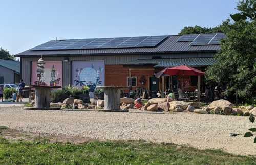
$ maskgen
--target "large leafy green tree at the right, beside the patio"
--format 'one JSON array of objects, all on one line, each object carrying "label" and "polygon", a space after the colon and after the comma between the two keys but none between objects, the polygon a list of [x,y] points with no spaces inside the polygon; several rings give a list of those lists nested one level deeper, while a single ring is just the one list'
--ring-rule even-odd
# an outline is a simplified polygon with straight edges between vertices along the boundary
[{"label": "large leafy green tree at the right, beside the patio", "polygon": [[237,95],[240,101],[256,100],[256,14],[255,10],[252,12],[255,3],[239,1],[240,13],[230,15],[234,23],[226,23],[223,27],[226,38],[214,57],[216,63],[206,71],[208,81],[227,85],[229,98]]}]

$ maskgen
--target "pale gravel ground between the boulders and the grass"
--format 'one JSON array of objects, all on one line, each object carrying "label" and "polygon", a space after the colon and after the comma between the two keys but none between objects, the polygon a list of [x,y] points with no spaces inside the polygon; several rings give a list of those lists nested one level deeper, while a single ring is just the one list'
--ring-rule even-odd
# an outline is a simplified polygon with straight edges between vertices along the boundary
[{"label": "pale gravel ground between the boulders and the grass", "polygon": [[80,136],[99,140],[147,140],[189,144],[199,149],[224,149],[240,155],[256,155],[253,138],[243,135],[255,127],[248,117],[193,113],[98,111],[40,111],[0,107],[0,126],[15,130]]}]

